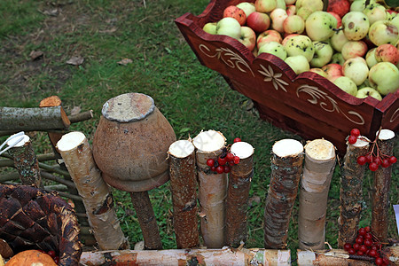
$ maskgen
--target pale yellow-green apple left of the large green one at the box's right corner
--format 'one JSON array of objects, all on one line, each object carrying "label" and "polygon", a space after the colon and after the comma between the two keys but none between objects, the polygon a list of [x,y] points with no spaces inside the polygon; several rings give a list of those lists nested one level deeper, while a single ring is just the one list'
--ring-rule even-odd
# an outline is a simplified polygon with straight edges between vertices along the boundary
[{"label": "pale yellow-green apple left of the large green one at the box's right corner", "polygon": [[359,86],[367,79],[369,67],[364,58],[356,57],[345,61],[342,73],[355,82],[356,86]]}]

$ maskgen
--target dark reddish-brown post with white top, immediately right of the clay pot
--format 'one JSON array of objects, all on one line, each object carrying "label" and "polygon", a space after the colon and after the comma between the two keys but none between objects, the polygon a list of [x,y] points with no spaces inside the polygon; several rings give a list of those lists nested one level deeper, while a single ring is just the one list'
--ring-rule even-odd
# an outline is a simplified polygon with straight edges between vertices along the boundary
[{"label": "dark reddish-brown post with white top, immediately right of the clay pot", "polygon": [[194,150],[190,140],[178,140],[169,146],[168,151],[177,248],[200,246]]}]

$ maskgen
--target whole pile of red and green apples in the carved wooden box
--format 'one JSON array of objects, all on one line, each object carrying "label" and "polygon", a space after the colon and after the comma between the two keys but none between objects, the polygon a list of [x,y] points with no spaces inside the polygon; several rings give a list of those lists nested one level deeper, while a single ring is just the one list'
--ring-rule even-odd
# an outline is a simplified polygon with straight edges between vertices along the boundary
[{"label": "whole pile of red and green apples in the carved wooden box", "polygon": [[[399,14],[381,0],[256,0],[228,6],[203,30],[239,40],[258,56],[312,71],[357,97],[399,88]],[[382,0],[383,1],[383,0]]]}]

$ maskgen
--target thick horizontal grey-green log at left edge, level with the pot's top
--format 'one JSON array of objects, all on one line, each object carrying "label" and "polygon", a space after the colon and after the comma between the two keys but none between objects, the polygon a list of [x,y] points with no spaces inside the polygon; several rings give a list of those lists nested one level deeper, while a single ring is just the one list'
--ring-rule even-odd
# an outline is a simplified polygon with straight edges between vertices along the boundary
[{"label": "thick horizontal grey-green log at left edge, level with the pot's top", "polygon": [[61,106],[18,108],[0,107],[0,129],[45,131],[67,129],[71,122]]}]

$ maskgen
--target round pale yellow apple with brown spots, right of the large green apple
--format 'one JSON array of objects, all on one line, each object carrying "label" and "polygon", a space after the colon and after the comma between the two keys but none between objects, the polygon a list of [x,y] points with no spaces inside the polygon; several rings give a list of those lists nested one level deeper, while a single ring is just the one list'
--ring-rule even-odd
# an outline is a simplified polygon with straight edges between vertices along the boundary
[{"label": "round pale yellow apple with brown spots, right of the large green apple", "polygon": [[370,21],[364,12],[348,12],[342,18],[342,27],[350,41],[359,41],[369,32]]}]

